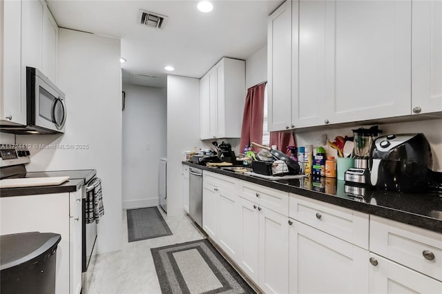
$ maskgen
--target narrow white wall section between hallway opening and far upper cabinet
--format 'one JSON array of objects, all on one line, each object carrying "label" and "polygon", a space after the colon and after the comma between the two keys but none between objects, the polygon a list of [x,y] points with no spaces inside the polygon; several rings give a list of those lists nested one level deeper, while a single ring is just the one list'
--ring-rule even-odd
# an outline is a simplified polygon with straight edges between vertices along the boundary
[{"label": "narrow white wall section between hallway opening and far upper cabinet", "polygon": [[200,79],[167,76],[167,214],[183,215],[182,160],[201,146]]}]

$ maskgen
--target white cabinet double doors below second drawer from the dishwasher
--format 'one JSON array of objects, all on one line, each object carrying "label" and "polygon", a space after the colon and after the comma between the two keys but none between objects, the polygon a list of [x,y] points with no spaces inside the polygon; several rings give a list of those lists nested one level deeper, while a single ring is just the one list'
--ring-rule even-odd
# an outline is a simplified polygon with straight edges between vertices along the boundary
[{"label": "white cabinet double doors below second drawer from the dishwasher", "polygon": [[265,293],[289,291],[288,217],[241,199],[240,267]]}]

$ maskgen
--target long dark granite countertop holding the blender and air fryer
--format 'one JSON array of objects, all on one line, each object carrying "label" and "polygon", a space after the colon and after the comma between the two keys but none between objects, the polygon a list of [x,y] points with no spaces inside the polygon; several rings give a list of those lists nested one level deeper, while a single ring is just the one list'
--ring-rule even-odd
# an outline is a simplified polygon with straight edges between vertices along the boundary
[{"label": "long dark granite countertop holding the blender and air fryer", "polygon": [[355,196],[345,192],[344,181],[333,178],[310,176],[276,182],[187,161],[183,161],[183,164],[442,233],[442,193],[398,193],[367,189],[365,193]]}]

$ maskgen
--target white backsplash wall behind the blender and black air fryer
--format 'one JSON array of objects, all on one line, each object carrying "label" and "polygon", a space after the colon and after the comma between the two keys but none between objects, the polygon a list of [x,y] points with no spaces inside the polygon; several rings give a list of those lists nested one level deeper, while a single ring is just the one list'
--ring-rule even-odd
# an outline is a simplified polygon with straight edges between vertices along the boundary
[{"label": "white backsplash wall behind the blender and black air fryer", "polygon": [[[359,127],[369,127],[372,125],[359,125],[355,124],[352,128],[326,128],[324,130],[318,130],[308,133],[296,133],[296,141],[298,146],[305,146],[305,144],[318,145],[318,139],[321,134],[327,134],[330,141],[334,141],[334,138],[338,135],[352,137],[352,129]],[[423,133],[427,140],[430,142],[433,155],[433,170],[442,172],[442,119],[432,119],[425,121],[409,121],[396,124],[379,124],[378,125],[383,134],[400,134],[400,133]],[[326,151],[329,155],[336,156],[336,152],[333,149]]]}]

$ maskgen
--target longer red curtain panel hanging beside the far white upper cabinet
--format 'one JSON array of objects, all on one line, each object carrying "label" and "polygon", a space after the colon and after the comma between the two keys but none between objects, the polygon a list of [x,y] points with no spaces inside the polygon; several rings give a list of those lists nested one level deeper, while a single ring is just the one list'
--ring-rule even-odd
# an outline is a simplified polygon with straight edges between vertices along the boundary
[{"label": "longer red curtain panel hanging beside the far white upper cabinet", "polygon": [[250,145],[252,141],[262,144],[265,84],[258,84],[247,89],[244,115],[242,116],[240,153],[242,153],[244,146]]}]

